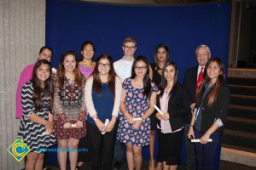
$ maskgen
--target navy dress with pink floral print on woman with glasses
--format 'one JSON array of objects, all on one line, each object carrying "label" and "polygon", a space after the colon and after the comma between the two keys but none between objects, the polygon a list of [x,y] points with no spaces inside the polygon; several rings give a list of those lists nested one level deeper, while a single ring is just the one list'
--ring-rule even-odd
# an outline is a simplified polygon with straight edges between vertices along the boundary
[{"label": "navy dress with pink floral print on woman with glasses", "polygon": [[[143,88],[133,88],[131,78],[125,79],[123,82],[125,89],[125,108],[131,116],[141,117],[148,110],[149,98],[143,96]],[[151,82],[151,92],[156,93],[157,87]],[[139,129],[131,128],[131,124],[127,122],[124,114],[120,115],[117,139],[123,143],[131,143],[136,146],[145,146],[150,143],[150,119],[149,117],[142,123]]]}]

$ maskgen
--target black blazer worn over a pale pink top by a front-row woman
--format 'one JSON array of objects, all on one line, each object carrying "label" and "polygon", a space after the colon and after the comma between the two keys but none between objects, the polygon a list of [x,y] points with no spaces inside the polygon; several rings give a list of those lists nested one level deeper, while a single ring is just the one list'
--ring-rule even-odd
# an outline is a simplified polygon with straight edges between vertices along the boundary
[{"label": "black blazer worn over a pale pink top by a front-row woman", "polygon": [[[160,108],[160,94],[157,94],[156,105]],[[183,116],[186,116],[190,112],[191,102],[189,96],[184,88],[177,84],[176,90],[174,90],[169,98],[168,113],[170,114],[169,122],[172,127],[172,131],[175,131],[184,126]],[[156,114],[157,111],[154,111]],[[160,127],[160,120],[156,119],[158,126]]]}]

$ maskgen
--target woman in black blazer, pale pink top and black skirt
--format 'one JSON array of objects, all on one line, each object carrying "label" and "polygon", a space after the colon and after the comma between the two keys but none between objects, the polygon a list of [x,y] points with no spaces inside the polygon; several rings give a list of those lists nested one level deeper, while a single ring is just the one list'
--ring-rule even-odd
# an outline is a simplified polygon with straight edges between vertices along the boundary
[{"label": "woman in black blazer, pale pink top and black skirt", "polygon": [[156,113],[159,150],[156,169],[176,169],[181,163],[183,116],[190,111],[189,96],[177,83],[177,65],[167,62],[163,68],[157,106],[164,113]]}]

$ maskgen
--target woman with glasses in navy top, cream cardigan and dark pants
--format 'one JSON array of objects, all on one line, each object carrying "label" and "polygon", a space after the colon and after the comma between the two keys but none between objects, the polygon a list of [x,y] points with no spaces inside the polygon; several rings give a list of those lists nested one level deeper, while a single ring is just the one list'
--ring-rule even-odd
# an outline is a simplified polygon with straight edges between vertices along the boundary
[{"label": "woman with glasses in navy top, cream cardigan and dark pants", "polygon": [[92,146],[91,169],[111,170],[121,83],[113,70],[111,56],[101,54],[96,59],[95,70],[87,79],[84,90],[85,104],[90,114],[87,125]]}]

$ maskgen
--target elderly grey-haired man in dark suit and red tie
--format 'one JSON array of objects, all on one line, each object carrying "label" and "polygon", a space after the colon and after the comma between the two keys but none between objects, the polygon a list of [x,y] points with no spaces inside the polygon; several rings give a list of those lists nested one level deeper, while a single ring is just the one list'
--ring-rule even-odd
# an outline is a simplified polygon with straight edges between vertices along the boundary
[{"label": "elderly grey-haired man in dark suit and red tie", "polygon": [[[198,62],[198,65],[191,67],[185,71],[183,87],[189,94],[189,98],[192,102],[190,105],[191,111],[195,107],[195,94],[202,81],[202,72],[204,71],[205,65],[207,64],[208,59],[211,57],[210,48],[207,45],[199,45],[195,49],[195,55]],[[185,134],[189,132],[189,123],[191,122],[192,114],[185,116]],[[186,152],[187,152],[187,169],[195,170],[195,149],[194,144],[191,144],[189,139],[186,137]]]}]

